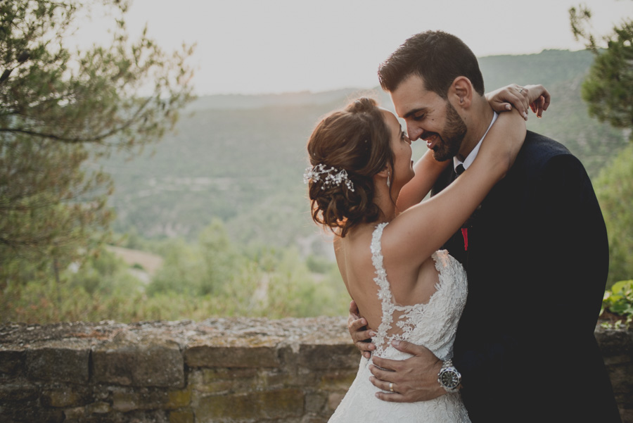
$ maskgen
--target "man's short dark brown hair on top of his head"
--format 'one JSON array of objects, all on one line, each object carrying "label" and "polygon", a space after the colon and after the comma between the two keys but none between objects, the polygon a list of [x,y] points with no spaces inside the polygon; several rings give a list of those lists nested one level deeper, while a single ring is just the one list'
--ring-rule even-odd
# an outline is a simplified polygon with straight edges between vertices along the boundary
[{"label": "man's short dark brown hair on top of his head", "polygon": [[394,91],[409,75],[422,77],[426,89],[442,99],[454,79],[467,77],[478,94],[484,94],[479,63],[471,49],[452,34],[427,31],[415,34],[399,46],[378,68],[385,91]]}]

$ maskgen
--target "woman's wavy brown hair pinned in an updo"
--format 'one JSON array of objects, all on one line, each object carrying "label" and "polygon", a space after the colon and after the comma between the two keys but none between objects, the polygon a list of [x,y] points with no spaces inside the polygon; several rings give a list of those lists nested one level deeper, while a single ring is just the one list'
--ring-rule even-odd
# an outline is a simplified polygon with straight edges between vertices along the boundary
[{"label": "woman's wavy brown hair pinned in an updo", "polygon": [[[376,101],[366,97],[342,111],[327,115],[316,125],[307,143],[310,164],[347,172],[347,181],[310,178],[308,193],[312,220],[345,236],[359,223],[375,222],[381,210],[373,203],[372,177],[390,163],[390,134]],[[391,175],[393,177],[393,175]]]}]

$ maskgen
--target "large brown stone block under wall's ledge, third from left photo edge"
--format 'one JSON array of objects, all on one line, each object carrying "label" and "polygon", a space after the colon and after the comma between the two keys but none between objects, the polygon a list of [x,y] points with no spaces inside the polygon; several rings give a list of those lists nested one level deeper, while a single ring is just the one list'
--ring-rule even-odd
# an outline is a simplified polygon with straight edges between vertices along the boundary
[{"label": "large brown stone block under wall's ledge, third from left photo edge", "polygon": [[92,351],[94,380],[124,386],[184,386],[184,360],[177,343],[112,341]]}]

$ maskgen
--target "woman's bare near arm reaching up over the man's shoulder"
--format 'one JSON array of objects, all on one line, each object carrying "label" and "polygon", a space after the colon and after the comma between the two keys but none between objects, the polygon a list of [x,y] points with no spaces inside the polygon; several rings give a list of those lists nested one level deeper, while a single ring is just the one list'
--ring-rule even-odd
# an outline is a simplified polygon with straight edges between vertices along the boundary
[{"label": "woman's bare near arm reaching up over the man's shoulder", "polygon": [[499,115],[463,175],[385,228],[383,251],[390,251],[391,265],[415,268],[437,251],[506,175],[524,139],[525,122],[518,111]]}]

